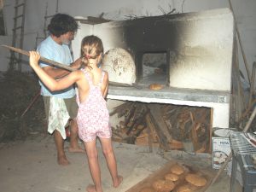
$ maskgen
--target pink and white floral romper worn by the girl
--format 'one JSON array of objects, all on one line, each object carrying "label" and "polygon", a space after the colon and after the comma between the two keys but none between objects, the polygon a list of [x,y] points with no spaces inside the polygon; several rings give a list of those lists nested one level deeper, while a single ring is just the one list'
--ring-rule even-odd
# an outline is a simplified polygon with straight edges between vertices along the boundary
[{"label": "pink and white floral romper worn by the girl", "polygon": [[102,96],[101,85],[105,72],[102,71],[102,79],[99,84],[94,85],[90,75],[86,70],[81,69],[85,79],[90,85],[90,93],[84,102],[77,102],[79,105],[78,126],[79,137],[84,142],[91,142],[96,137],[110,138],[112,131],[109,125],[109,113],[107,103]]}]

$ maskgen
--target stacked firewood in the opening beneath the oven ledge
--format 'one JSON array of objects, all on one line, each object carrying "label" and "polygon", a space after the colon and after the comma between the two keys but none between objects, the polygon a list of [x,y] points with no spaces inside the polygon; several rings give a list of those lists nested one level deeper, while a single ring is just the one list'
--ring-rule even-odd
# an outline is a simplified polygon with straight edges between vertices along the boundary
[{"label": "stacked firewood in the opening beneath the oven ledge", "polygon": [[160,103],[124,102],[110,116],[121,119],[113,128],[113,141],[160,147],[164,150],[210,152],[211,109]]}]

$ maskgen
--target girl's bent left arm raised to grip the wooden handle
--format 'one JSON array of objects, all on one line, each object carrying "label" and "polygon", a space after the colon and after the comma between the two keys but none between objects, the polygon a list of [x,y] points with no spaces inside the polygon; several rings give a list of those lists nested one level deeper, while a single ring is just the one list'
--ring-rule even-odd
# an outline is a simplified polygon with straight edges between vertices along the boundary
[{"label": "girl's bent left arm raised to grip the wooden handle", "polygon": [[72,84],[76,83],[79,79],[79,71],[74,71],[69,73],[65,78],[60,80],[55,80],[49,76],[49,74],[44,72],[38,65],[38,61],[40,59],[40,55],[36,51],[30,51],[29,63],[35,73],[38,74],[38,78],[42,80],[42,82],[49,88],[51,91],[55,90],[63,90],[67,87],[71,86]]}]

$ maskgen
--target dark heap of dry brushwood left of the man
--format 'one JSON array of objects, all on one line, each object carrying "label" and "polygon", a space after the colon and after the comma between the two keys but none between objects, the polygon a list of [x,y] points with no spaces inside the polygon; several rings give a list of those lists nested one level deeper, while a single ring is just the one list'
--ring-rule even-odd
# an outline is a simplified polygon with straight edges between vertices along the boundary
[{"label": "dark heap of dry brushwood left of the man", "polygon": [[0,73],[0,87],[0,143],[44,132],[44,102],[35,73]]}]

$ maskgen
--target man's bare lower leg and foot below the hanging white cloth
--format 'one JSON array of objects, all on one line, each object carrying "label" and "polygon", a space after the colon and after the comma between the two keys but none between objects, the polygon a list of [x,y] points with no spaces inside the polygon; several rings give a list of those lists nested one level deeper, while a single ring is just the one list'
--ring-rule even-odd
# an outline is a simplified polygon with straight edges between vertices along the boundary
[{"label": "man's bare lower leg and foot below the hanging white cloth", "polygon": [[64,152],[64,140],[61,137],[61,133],[55,130],[54,137],[55,137],[55,146],[57,149],[58,164],[61,166],[67,166],[69,164],[69,161],[67,160],[66,154]]}]

